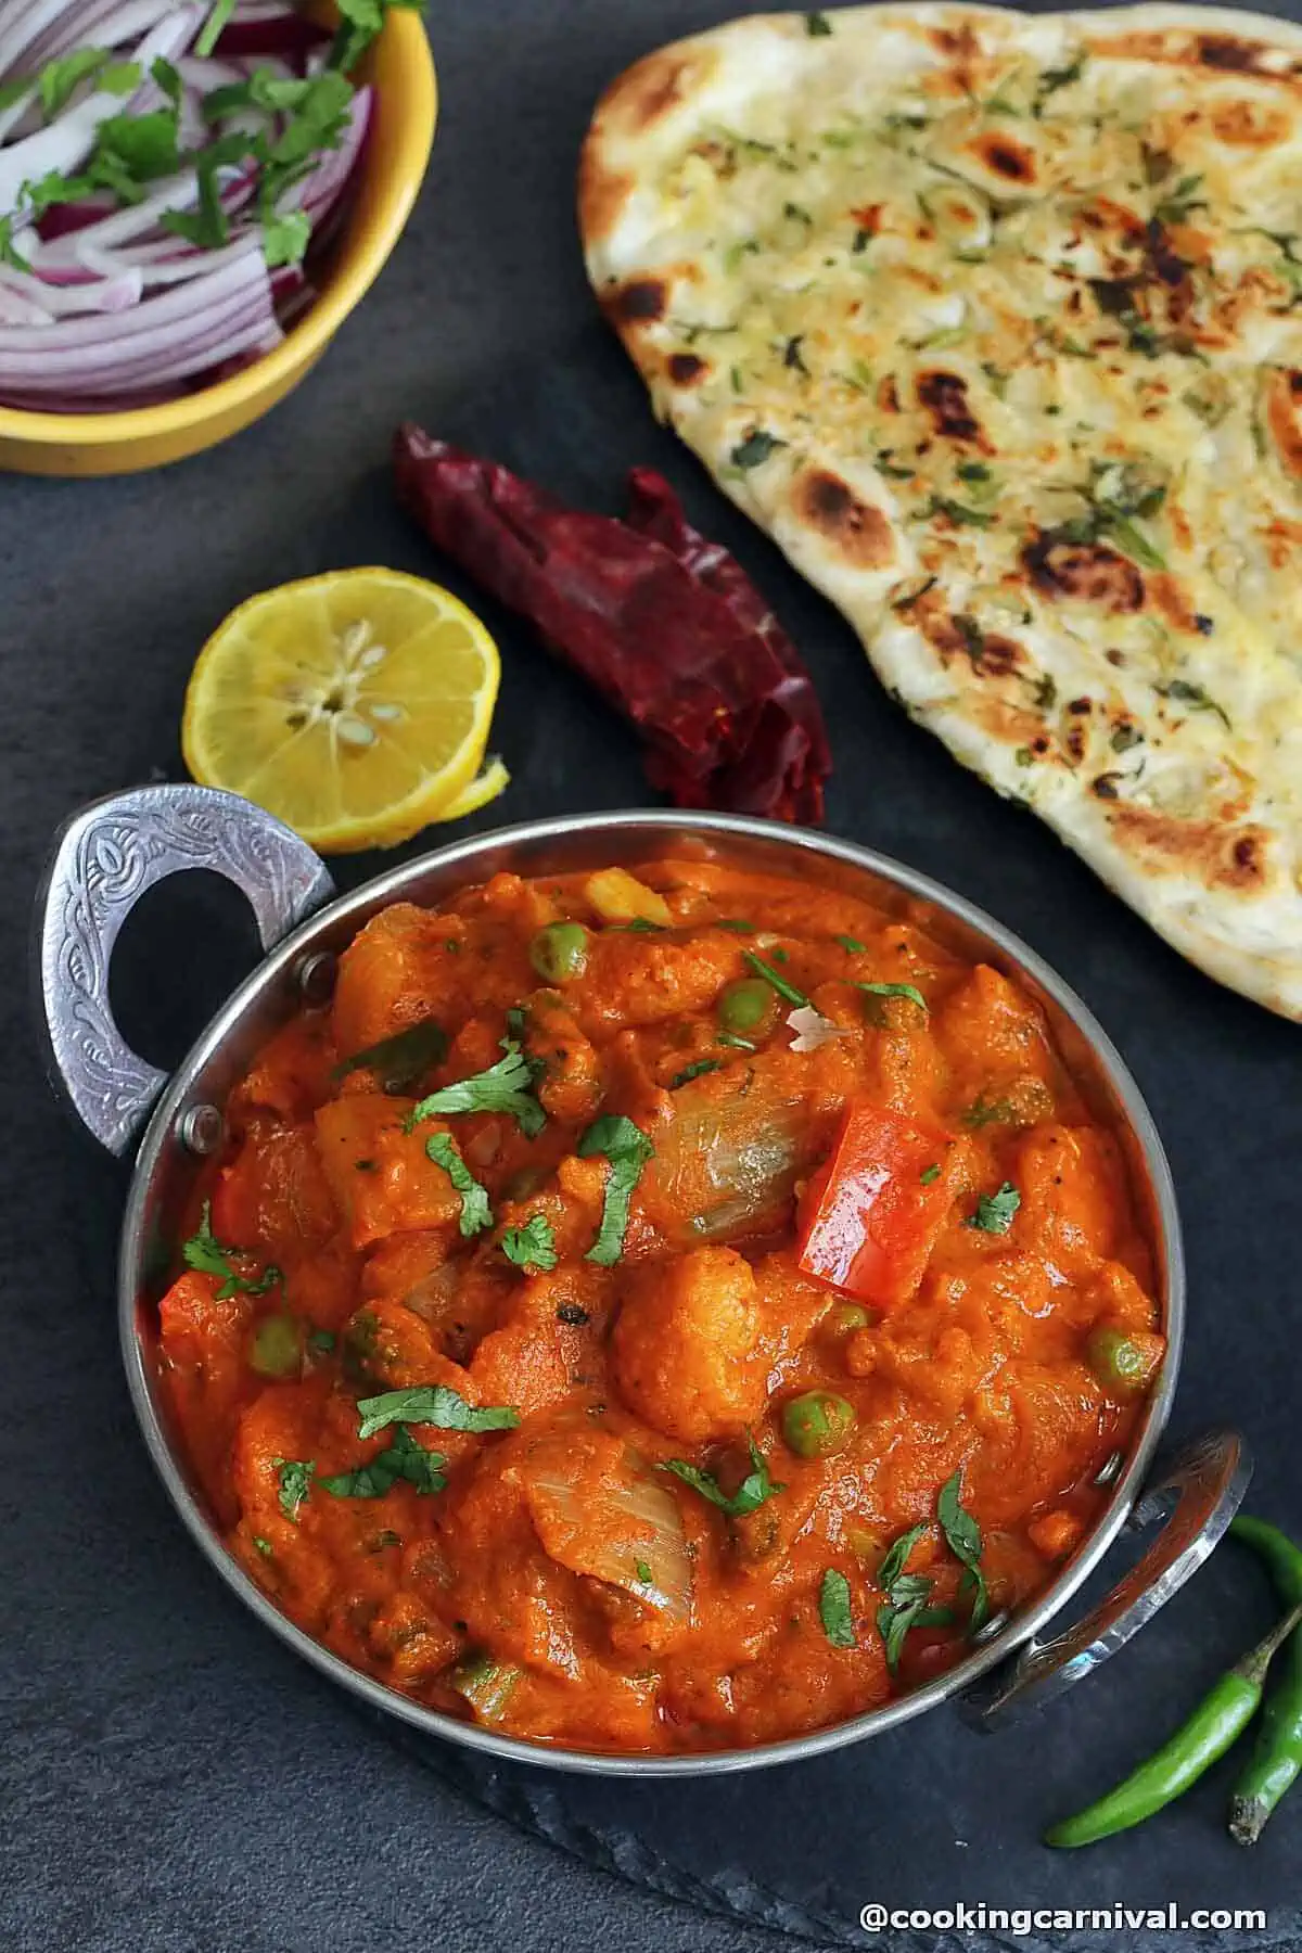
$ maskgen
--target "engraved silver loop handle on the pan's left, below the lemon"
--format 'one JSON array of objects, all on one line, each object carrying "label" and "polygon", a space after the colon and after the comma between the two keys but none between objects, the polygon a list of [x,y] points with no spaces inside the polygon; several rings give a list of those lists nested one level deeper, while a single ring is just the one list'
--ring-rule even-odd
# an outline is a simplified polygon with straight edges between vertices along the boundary
[{"label": "engraved silver loop handle on the pan's left, below the lemon", "polygon": [[191,867],[248,896],[264,949],[334,894],[306,842],[236,793],[133,787],[72,814],[37,896],[41,1004],[51,1076],[109,1152],[127,1152],[168,1082],[113,1021],[113,943],[146,889]]}]

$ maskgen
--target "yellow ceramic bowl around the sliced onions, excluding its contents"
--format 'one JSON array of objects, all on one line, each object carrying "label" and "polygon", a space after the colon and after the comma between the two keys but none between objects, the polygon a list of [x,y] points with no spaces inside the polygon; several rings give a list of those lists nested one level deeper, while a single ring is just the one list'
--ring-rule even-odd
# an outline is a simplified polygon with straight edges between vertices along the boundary
[{"label": "yellow ceramic bowl around the sliced onions, excluding its contents", "polygon": [[367,57],[375,115],[347,229],[322,293],[275,352],[230,379],[127,414],[27,414],[0,404],[0,469],[20,475],[133,475],[215,447],[275,406],[316,365],[398,242],[429,162],[437,119],[433,59],[420,14],[394,8]]}]

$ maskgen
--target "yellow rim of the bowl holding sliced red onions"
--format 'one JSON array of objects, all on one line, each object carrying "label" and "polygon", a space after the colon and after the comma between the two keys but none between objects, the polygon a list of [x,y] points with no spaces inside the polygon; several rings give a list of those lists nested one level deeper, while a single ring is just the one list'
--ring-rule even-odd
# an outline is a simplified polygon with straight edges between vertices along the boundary
[{"label": "yellow rim of the bowl holding sliced red onions", "polygon": [[156,406],[133,406],[111,414],[41,414],[33,408],[0,402],[0,441],[25,441],[39,447],[107,447],[182,434],[207,420],[236,412],[265,389],[301,373],[324,352],[392,256],[412,215],[433,148],[439,86],[422,14],[394,8],[385,18],[383,37],[392,37],[390,45],[400,61],[406,88],[396,148],[387,170],[387,193],[379,199],[365,230],[355,240],[344,236],[336,275],[303,318],[289,328],[281,344],[228,379],[203,387],[199,393],[180,395],[176,400],[160,400]]}]

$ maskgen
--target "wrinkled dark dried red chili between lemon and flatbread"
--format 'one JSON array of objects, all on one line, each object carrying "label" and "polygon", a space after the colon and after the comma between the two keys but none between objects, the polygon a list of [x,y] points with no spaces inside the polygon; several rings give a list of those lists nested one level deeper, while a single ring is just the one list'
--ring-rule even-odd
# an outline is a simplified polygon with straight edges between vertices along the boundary
[{"label": "wrinkled dark dried red chili between lemon and flatbread", "polygon": [[646,775],[677,807],[822,820],[832,758],[812,680],[662,477],[634,469],[617,521],[414,426],[394,437],[394,469],[435,547],[636,725]]}]

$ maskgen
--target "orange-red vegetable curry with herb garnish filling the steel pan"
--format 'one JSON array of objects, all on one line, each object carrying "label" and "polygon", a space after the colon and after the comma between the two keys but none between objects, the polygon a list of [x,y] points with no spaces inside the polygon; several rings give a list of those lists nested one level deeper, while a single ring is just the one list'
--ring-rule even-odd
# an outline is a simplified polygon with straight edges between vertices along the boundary
[{"label": "orange-red vegetable curry with herb garnish filling the steel pan", "polygon": [[[990,1605],[1052,1576],[1161,1353],[1150,1250],[1119,1146],[1017,984],[794,881],[666,859],[613,885],[498,875],[357,935],[330,1010],[232,1094],[187,1252],[215,1271],[164,1297],[160,1359],[230,1551],[353,1666],[541,1742],[769,1742],[962,1656],[976,1582],[937,1523],[953,1475]],[[586,934],[545,939],[545,980],[531,945],[558,918]],[[564,969],[556,943],[578,945]],[[748,955],[810,1000],[812,1037]],[[523,1121],[410,1123],[508,1062],[511,1033]],[[935,1137],[908,1174],[925,1189],[900,1195],[921,1246],[880,1307],[800,1267],[847,1107]],[[597,1121],[609,1150],[584,1146]],[[617,1121],[654,1156],[629,1166]],[[880,1178],[869,1162],[865,1199]],[[1101,1381],[1099,1336],[1144,1375]],[[439,1422],[361,1437],[359,1400],[398,1391]],[[810,1391],[849,1406],[824,1455],[787,1434]],[[447,1404],[513,1428],[447,1428]],[[748,1482],[767,1496],[740,1510]],[[927,1611],[892,1668],[880,1572],[910,1527],[894,1572]]]}]

